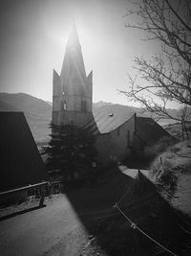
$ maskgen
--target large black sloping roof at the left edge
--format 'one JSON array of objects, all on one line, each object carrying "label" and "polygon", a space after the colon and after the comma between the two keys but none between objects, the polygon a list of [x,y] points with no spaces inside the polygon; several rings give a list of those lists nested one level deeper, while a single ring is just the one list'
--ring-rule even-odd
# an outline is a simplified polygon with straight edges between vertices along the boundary
[{"label": "large black sloping roof at the left edge", "polygon": [[22,112],[0,112],[0,192],[38,183],[46,171]]}]

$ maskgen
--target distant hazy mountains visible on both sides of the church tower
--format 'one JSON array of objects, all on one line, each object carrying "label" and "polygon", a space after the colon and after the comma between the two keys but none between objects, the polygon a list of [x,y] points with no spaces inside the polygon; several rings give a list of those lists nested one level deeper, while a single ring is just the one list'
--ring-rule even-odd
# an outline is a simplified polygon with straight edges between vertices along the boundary
[{"label": "distant hazy mountains visible on both sides of the church tower", "polygon": [[[128,105],[117,105],[112,103],[98,102],[93,104],[93,112],[102,111],[105,114],[124,113],[132,115],[134,112],[144,116],[150,116],[148,112],[144,114]],[[42,143],[49,140],[51,132],[49,125],[52,118],[52,103],[46,102],[25,93],[0,93],[0,111],[22,111],[32,129],[32,134],[36,142]],[[181,110],[169,109],[174,116],[180,116]],[[160,120],[161,126],[173,123],[171,120]]]}]

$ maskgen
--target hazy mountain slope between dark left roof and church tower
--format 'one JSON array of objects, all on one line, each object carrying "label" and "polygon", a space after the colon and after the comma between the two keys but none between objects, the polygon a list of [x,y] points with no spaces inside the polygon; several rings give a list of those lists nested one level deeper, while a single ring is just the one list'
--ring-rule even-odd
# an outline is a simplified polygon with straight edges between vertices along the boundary
[{"label": "hazy mountain slope between dark left roof and church tower", "polygon": [[25,93],[0,93],[0,111],[22,111],[35,141],[49,139],[52,105]]}]

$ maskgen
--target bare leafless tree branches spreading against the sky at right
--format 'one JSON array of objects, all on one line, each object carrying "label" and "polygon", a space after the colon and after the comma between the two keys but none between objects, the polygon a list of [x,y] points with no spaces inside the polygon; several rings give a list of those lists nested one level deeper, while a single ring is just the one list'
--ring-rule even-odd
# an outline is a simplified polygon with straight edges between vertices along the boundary
[{"label": "bare leafless tree branches spreading against the sky at right", "polygon": [[[159,118],[184,122],[189,119],[187,107],[191,106],[191,1],[130,3],[132,9],[127,11],[127,19],[135,15],[138,23],[127,23],[126,27],[145,32],[146,40],[158,40],[160,51],[150,60],[135,58],[138,76],[129,75],[130,88],[121,92]],[[182,105],[181,117],[167,110],[170,102]]]}]

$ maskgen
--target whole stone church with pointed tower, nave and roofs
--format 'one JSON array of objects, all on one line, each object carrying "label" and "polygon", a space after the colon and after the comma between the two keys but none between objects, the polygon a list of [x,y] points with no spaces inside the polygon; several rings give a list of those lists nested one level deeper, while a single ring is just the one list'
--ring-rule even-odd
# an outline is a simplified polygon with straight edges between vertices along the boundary
[{"label": "whole stone church with pointed tower, nave and roofs", "polygon": [[148,153],[161,138],[170,136],[149,117],[109,105],[92,111],[93,72],[86,76],[75,26],[69,36],[60,75],[53,70],[53,124],[91,128],[96,135],[98,161],[107,163],[129,154]]}]

